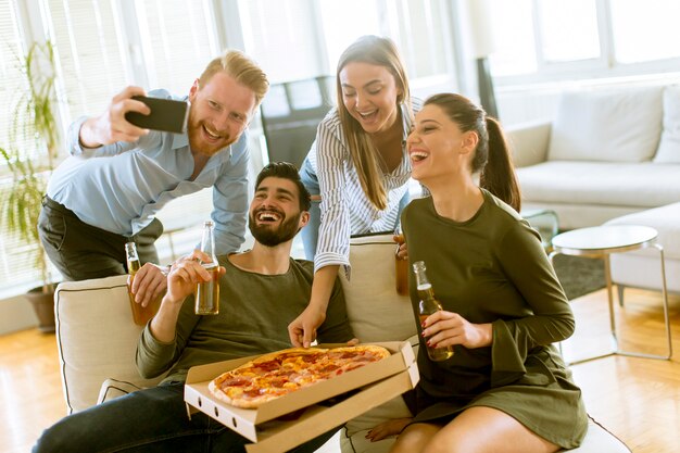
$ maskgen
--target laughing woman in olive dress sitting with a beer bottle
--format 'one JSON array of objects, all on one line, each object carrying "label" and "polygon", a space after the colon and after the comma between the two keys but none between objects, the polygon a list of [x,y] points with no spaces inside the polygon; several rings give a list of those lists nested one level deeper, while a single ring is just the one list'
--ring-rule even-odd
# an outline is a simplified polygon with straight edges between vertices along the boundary
[{"label": "laughing woman in olive dress sitting with a beer bottle", "polygon": [[[443,311],[418,329],[444,362],[419,349],[413,419],[393,452],[556,452],[578,446],[588,418],[556,348],[574,332],[568,301],[519,214],[519,188],[499,123],[468,99],[429,98],[407,140],[413,177],[431,196],[402,214],[411,263],[424,261]],[[418,297],[412,278],[411,299]],[[417,316],[416,316],[417,319]]]}]

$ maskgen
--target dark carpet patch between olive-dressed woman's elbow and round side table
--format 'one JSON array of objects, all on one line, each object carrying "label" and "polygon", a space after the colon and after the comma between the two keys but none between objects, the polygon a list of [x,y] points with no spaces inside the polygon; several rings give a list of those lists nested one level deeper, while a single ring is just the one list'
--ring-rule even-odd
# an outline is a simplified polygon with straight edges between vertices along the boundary
[{"label": "dark carpet patch between olive-dressed woman's elbow and round side table", "polygon": [[553,265],[569,300],[596,291],[606,285],[602,260],[556,255]]}]

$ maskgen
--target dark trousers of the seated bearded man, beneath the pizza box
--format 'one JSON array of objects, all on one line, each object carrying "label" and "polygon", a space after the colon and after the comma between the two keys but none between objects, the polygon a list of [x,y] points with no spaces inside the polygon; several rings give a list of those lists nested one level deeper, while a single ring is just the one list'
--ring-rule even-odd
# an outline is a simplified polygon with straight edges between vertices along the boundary
[{"label": "dark trousers of the seated bearded man, beneath the pizza box", "polygon": [[[314,452],[337,429],[297,449]],[[139,390],[62,418],[42,432],[33,453],[244,452],[250,441],[203,413],[187,416],[184,383]]]}]

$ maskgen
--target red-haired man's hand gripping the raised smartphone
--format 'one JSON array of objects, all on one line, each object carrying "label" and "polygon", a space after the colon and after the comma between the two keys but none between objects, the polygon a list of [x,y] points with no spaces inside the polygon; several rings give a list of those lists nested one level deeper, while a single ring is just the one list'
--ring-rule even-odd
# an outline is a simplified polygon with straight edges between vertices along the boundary
[{"label": "red-haired man's hand gripping the raised smartphone", "polygon": [[149,129],[137,127],[125,119],[125,113],[151,113],[147,104],[130,99],[133,96],[146,96],[140,87],[127,87],[113,97],[109,108],[100,116],[88,118],[80,127],[80,144],[85,148],[98,148],[116,141],[137,141],[149,134]]}]

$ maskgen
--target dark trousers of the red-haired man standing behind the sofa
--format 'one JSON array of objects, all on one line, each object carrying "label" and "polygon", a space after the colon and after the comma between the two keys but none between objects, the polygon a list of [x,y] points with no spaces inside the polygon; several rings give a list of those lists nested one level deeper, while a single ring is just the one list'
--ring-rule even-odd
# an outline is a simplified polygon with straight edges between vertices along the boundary
[{"label": "dark trousers of the red-haired man standing behind the sofa", "polygon": [[87,280],[127,274],[126,242],[137,244],[141,264],[158,263],[154,242],[163,234],[163,224],[154,218],[137,235],[121,236],[86,224],[73,211],[46,196],[38,232],[47,255],[64,280]]}]

